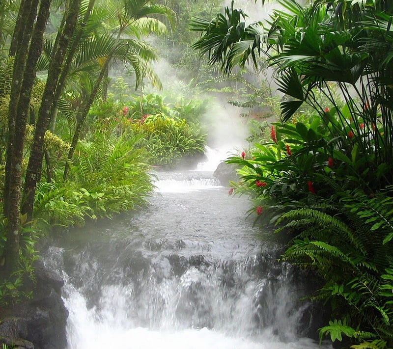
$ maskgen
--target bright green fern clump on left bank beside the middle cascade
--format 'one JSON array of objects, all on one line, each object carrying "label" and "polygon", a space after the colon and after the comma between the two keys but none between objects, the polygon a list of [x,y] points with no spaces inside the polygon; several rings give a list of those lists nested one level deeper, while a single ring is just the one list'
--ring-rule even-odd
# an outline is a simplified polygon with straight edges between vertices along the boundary
[{"label": "bright green fern clump on left bank beside the middle cascade", "polygon": [[143,206],[152,190],[147,154],[136,148],[141,136],[117,136],[116,126],[110,123],[80,142],[71,167],[70,179],[93,218]]}]

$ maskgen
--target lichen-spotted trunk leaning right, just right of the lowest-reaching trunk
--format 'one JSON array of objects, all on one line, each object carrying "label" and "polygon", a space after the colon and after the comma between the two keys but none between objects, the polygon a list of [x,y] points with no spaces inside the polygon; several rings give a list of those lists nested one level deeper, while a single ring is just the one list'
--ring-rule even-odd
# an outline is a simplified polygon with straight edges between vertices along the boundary
[{"label": "lichen-spotted trunk leaning right, just right of the lowest-reaching trunk", "polygon": [[58,42],[57,50],[54,54],[52,54],[52,62],[48,71],[48,78],[38,112],[33,144],[31,145],[26,172],[22,213],[28,214],[28,220],[32,218],[33,214],[35,187],[37,182],[41,179],[42,160],[44,155],[44,136],[45,132],[48,130],[48,124],[50,121],[49,114],[52,107],[57,104],[57,101],[54,100],[57,82],[61,73],[68,43],[74,34],[80,5],[81,0],[72,0],[68,13],[64,14],[64,16],[66,16],[66,20],[63,21],[64,28],[61,32],[59,31],[58,35],[60,37],[58,39],[56,38],[56,41]]}]

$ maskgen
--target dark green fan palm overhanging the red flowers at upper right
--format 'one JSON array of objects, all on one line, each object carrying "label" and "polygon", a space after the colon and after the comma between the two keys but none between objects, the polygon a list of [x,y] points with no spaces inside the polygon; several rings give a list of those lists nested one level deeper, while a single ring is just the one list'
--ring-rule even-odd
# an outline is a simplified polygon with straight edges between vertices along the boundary
[{"label": "dark green fan palm overhanging the red flowers at upper right", "polygon": [[[207,53],[210,63],[220,62],[225,73],[249,60],[256,65],[257,55],[265,54],[276,69],[279,91],[289,97],[281,102],[282,121],[309,104],[336,131],[340,149],[350,153],[352,145],[342,136],[358,135],[354,142],[366,158],[365,168],[380,168],[380,186],[393,184],[392,1],[280,4],[286,12],[275,11],[268,28],[260,22],[247,26],[246,15],[233,3],[212,21],[196,19],[192,29],[201,37],[194,48]],[[337,106],[336,86],[345,108]],[[331,115],[319,105],[315,89],[330,100]]]}]

